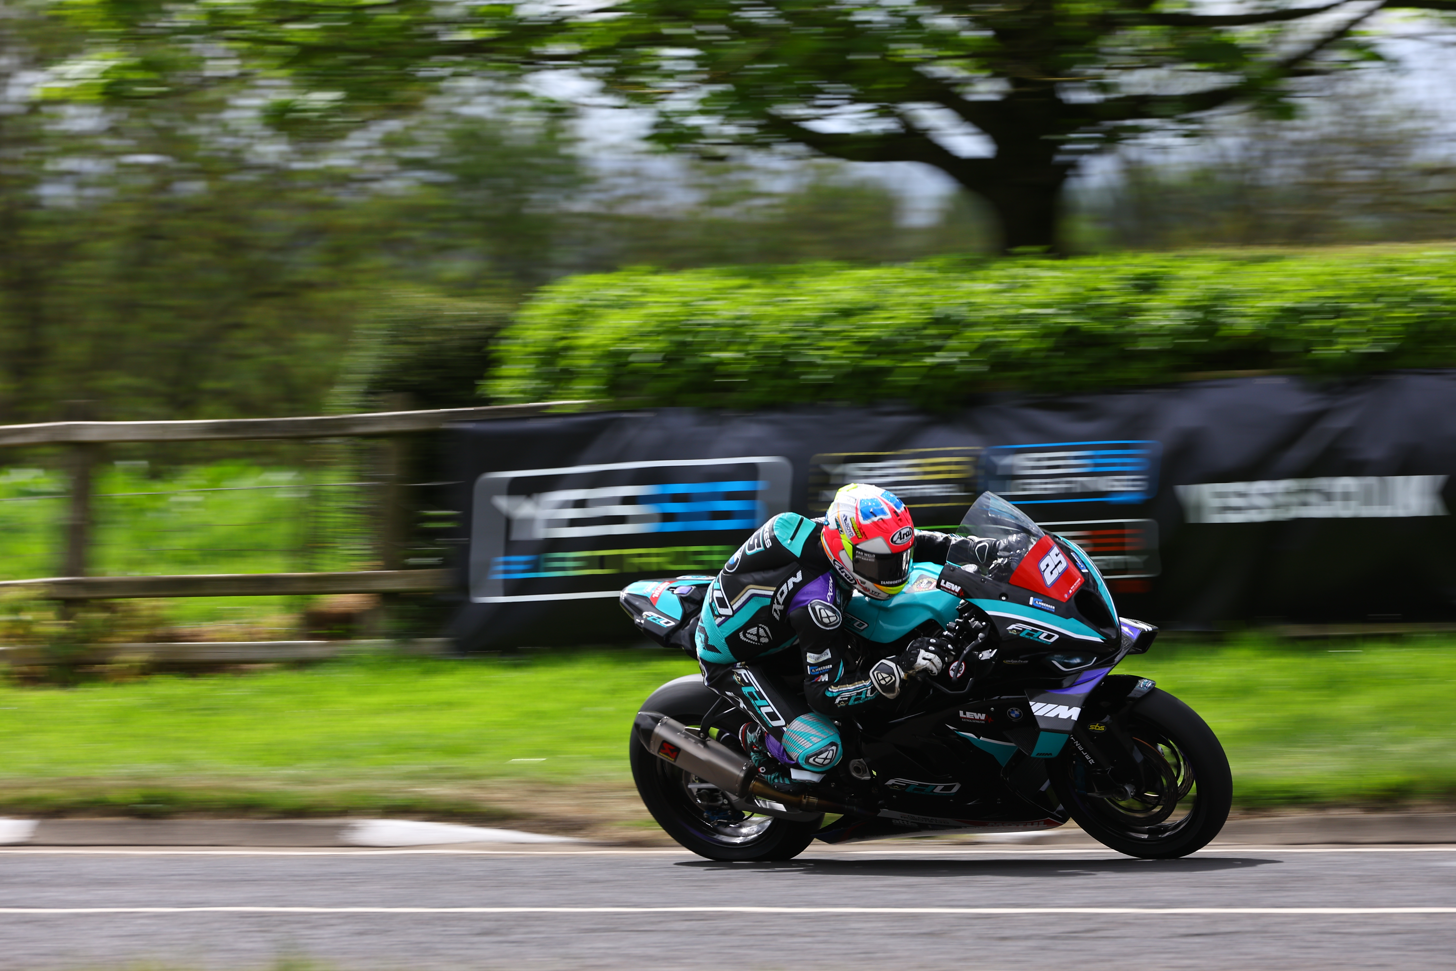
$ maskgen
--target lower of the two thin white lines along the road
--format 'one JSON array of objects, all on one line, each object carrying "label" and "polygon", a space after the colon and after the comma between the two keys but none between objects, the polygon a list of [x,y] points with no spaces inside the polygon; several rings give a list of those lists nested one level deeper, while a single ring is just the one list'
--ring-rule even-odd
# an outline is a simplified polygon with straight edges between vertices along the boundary
[{"label": "lower of the two thin white lines along the road", "polygon": [[0,914],[1456,914],[1456,907],[0,907]]}]

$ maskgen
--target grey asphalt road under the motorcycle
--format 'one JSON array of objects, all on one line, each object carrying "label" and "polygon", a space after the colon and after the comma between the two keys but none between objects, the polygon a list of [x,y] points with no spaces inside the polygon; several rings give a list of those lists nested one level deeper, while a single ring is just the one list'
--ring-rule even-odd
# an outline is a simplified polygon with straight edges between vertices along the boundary
[{"label": "grey asphalt road under the motorcycle", "polygon": [[0,968],[294,958],[333,971],[1456,968],[1456,846],[1149,862],[878,843],[766,865],[673,850],[0,852]]}]

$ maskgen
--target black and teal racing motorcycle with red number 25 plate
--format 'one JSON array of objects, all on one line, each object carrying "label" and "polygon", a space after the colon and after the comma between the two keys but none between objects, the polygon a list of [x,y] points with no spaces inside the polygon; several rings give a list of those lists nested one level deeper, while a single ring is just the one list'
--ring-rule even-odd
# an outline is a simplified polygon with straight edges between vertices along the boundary
[{"label": "black and teal racing motorcycle with red number 25 plate", "polygon": [[[922,636],[957,659],[907,683],[893,706],[837,715],[844,757],[799,792],[769,785],[738,747],[750,713],[700,675],[668,681],[638,712],[632,776],[680,844],[715,860],[785,860],[812,840],[1050,830],[1076,820],[1147,859],[1207,844],[1229,814],[1223,747],[1150,678],[1112,674],[1158,629],[1118,617],[1092,558],[986,492],[943,566],[914,565],[890,600],[846,604],[860,670]],[[638,627],[696,659],[711,576],[639,581],[620,594]],[[796,651],[779,675],[802,686]],[[761,658],[761,671],[772,658]],[[786,767],[788,769],[788,767]]]}]

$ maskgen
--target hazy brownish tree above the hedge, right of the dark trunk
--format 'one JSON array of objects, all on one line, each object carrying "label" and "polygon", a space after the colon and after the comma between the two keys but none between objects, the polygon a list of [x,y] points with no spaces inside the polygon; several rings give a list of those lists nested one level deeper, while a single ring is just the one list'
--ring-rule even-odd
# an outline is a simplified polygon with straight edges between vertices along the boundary
[{"label": "hazy brownish tree above the hedge, right of the dark trunk", "polygon": [[1083,191],[1099,247],[1449,239],[1456,146],[1388,84],[1341,79],[1291,122],[1223,119],[1197,148],[1124,146],[1118,178]]}]

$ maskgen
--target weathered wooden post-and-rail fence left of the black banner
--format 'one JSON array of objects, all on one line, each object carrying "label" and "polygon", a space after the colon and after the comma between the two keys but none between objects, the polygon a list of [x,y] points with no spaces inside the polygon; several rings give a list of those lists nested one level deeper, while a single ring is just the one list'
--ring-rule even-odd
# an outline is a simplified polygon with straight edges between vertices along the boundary
[{"label": "weathered wooden post-and-rail fence left of the black banner", "polygon": [[[47,600],[84,601],[134,597],[265,597],[309,594],[399,594],[444,590],[451,582],[448,569],[400,569],[397,550],[408,528],[405,488],[405,440],[409,435],[438,431],[453,422],[523,418],[587,402],[542,402],[534,405],[498,405],[440,411],[373,412],[363,415],[320,415],[304,418],[242,418],[224,421],[153,421],[102,422],[64,421],[36,425],[0,425],[0,448],[64,445],[68,489],[63,549],[57,558],[58,574],[39,579],[0,581],[0,591],[32,590]],[[383,438],[387,443],[379,502],[377,547],[380,569],[312,574],[213,574],[169,576],[92,576],[92,479],[109,444],[239,441],[277,438]],[[258,659],[316,658],[331,654],[323,642],[259,642],[252,652]],[[374,642],[370,642],[374,643]],[[431,642],[437,648],[438,642]],[[146,648],[150,655],[197,655],[202,645],[112,645],[109,652]],[[240,645],[229,645],[229,657],[250,657]],[[13,657],[22,657],[20,648]],[[291,654],[290,654],[291,652]],[[25,657],[35,654],[25,649]],[[201,654],[205,654],[201,652]]]}]

